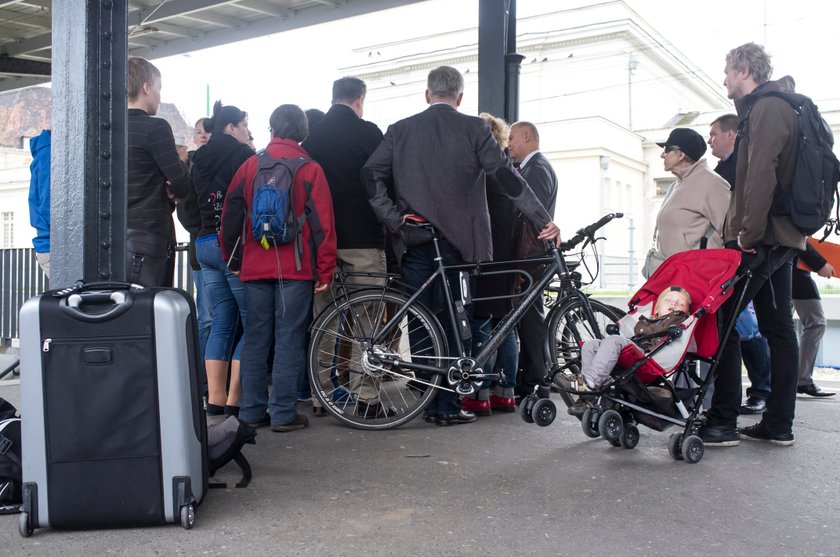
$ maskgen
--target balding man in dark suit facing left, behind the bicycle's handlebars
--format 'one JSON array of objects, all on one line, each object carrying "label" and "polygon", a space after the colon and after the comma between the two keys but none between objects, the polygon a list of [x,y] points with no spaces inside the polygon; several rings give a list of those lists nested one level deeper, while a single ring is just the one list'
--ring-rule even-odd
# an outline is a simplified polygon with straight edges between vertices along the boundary
[{"label": "balding man in dark suit facing left, behind the bicycle's handlebars", "polygon": [[[540,152],[540,134],[531,122],[517,122],[510,127],[510,156],[519,164],[519,173],[528,182],[537,199],[540,200],[548,214],[554,217],[554,206],[557,201],[557,176],[551,163]],[[519,226],[518,257],[541,255],[543,249],[534,241],[531,225],[525,219]],[[532,271],[535,280],[539,280],[542,273]],[[520,368],[522,373],[517,375],[519,394],[533,391],[545,376],[545,357],[543,355],[543,337],[545,337],[545,313],[542,305],[531,306],[522,321],[519,322],[519,340],[522,346]]]}]

